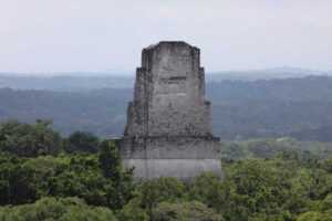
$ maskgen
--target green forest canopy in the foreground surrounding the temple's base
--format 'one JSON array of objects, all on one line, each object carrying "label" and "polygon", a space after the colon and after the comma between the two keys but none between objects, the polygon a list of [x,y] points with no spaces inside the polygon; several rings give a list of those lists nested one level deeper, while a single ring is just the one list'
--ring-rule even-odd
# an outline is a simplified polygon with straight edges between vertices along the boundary
[{"label": "green forest canopy in the foreground surrounding the temple's base", "polygon": [[50,122],[0,126],[0,220],[331,221],[331,144],[225,141],[224,181],[139,181],[112,140]]}]

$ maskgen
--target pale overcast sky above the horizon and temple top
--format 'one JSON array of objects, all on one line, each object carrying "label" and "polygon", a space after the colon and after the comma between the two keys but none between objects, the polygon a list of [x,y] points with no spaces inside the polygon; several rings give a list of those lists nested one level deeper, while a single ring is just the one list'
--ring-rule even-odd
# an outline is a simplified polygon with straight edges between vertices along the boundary
[{"label": "pale overcast sky above the horizon and temple top", "polygon": [[207,71],[332,70],[332,0],[0,0],[0,72],[134,71],[162,40]]}]

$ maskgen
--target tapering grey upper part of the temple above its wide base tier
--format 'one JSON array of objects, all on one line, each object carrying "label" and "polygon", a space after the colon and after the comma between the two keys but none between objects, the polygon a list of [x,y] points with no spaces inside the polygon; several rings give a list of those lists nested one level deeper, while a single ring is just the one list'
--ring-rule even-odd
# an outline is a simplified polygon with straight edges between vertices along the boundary
[{"label": "tapering grey upper part of the temple above its wide base tier", "polygon": [[199,50],[184,42],[162,42],[143,50],[128,136],[204,136],[211,134]]}]

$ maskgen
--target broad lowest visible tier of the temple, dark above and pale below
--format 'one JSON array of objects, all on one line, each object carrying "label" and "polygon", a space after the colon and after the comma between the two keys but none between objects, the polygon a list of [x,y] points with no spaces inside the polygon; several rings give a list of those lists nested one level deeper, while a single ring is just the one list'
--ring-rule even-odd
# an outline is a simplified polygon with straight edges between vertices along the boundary
[{"label": "broad lowest visible tier of the temple, dark above and pale below", "polygon": [[135,167],[137,178],[221,176],[219,139],[214,137],[131,137],[121,146],[125,166]]}]

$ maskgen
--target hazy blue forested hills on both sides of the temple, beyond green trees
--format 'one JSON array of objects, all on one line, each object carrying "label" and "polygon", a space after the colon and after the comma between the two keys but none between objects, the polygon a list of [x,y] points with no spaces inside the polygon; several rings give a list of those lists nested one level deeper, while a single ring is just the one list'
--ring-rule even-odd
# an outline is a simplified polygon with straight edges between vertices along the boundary
[{"label": "hazy blue forested hills on both sides of the temple, beyond green trees", "polygon": [[[212,103],[214,131],[221,139],[294,137],[332,141],[332,77],[217,80],[212,77],[206,91]],[[69,85],[73,85],[73,81],[71,78]],[[85,88],[86,82],[92,80],[77,81],[75,85],[82,83]],[[96,86],[101,86],[103,78],[95,81]],[[114,78],[112,84],[108,81],[110,88],[100,90],[0,88],[0,122],[15,118],[33,123],[43,118],[52,119],[54,128],[62,135],[75,130],[91,131],[101,137],[122,135],[133,91],[128,84],[123,86],[123,81],[118,85]],[[38,84],[34,82],[33,85]],[[46,85],[41,83],[43,88],[54,90],[51,85],[50,82]]]}]

